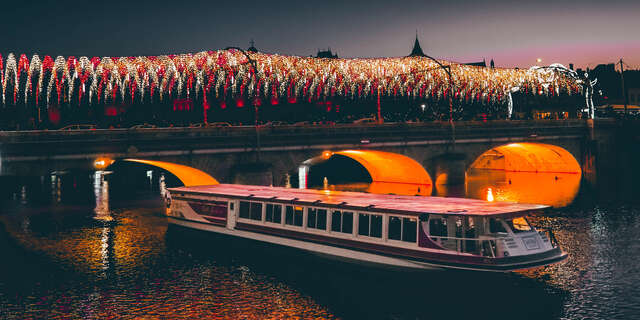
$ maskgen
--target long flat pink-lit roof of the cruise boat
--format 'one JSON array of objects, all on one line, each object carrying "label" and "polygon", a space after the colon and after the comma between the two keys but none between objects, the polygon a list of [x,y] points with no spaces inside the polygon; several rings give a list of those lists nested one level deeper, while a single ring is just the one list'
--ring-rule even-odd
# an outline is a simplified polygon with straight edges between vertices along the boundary
[{"label": "long flat pink-lit roof of the cruise boat", "polygon": [[239,184],[178,187],[169,189],[172,194],[227,197],[245,200],[312,205],[389,212],[409,215],[423,213],[471,216],[523,216],[533,210],[548,206],[513,202],[489,202],[477,199],[443,198],[426,196],[401,196],[349,191],[293,189]]}]

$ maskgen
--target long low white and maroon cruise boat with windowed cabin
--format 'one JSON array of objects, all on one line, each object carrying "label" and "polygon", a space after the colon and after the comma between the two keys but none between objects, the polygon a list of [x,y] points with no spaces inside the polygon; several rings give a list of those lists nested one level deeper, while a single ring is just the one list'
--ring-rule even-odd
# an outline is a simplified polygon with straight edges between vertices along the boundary
[{"label": "long low white and maroon cruise boat with windowed cabin", "polygon": [[169,223],[382,266],[513,271],[567,254],[546,206],[233,184],[169,189]]}]

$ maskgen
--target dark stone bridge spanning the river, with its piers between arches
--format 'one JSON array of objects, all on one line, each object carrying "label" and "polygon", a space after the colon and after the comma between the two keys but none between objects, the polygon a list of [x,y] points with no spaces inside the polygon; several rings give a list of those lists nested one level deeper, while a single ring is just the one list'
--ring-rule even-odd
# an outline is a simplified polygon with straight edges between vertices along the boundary
[{"label": "dark stone bridge spanning the river, with its piers between arches", "polygon": [[588,175],[617,128],[614,120],[545,120],[0,132],[0,175],[94,170],[96,159],[138,158],[192,166],[220,182],[283,185],[287,173],[324,150],[373,149],[406,155],[432,177],[446,172],[457,183],[478,156],[514,142],[559,146]]}]

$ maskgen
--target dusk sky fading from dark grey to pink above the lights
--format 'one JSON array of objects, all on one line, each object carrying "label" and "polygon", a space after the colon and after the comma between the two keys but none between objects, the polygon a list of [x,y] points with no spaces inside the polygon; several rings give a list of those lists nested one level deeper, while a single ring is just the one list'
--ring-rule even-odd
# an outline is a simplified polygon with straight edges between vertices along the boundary
[{"label": "dusk sky fading from dark grey to pink above the lights", "polygon": [[640,67],[640,1],[29,1],[3,3],[0,53],[135,56],[246,48],[340,57],[425,53],[497,66]]}]

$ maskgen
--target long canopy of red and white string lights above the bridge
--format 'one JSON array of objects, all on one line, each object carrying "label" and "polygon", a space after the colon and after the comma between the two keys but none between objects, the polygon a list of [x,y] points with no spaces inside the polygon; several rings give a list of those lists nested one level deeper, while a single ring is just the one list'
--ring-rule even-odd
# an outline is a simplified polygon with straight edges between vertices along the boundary
[{"label": "long canopy of red and white string lights above the bridge", "polygon": [[[217,50],[195,54],[87,58],[0,55],[2,103],[48,107],[101,103],[154,103],[201,99],[318,102],[332,99],[407,98],[458,105],[507,106],[511,93],[555,97],[583,93],[581,81],[555,69],[501,69],[423,57],[322,59]],[[254,65],[256,67],[254,67]],[[257,69],[257,70],[256,70]],[[171,101],[171,100],[169,100]]]}]

